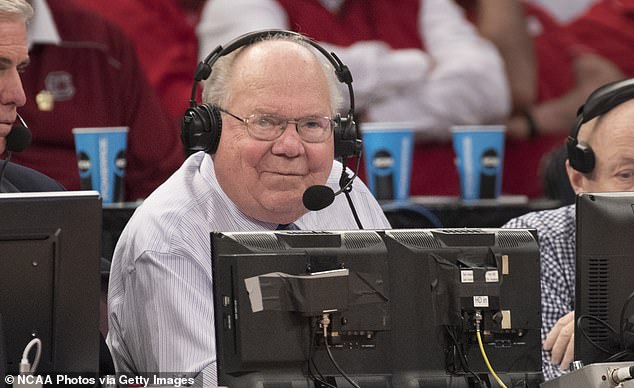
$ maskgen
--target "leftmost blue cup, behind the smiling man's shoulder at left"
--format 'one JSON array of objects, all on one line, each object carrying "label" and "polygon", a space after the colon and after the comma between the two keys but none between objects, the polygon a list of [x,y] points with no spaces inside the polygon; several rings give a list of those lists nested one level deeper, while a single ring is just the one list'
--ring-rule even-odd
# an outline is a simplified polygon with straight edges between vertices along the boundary
[{"label": "leftmost blue cup, behind the smiling man's shoulder at left", "polygon": [[123,202],[128,127],[73,128],[82,190],[96,190],[102,203]]}]

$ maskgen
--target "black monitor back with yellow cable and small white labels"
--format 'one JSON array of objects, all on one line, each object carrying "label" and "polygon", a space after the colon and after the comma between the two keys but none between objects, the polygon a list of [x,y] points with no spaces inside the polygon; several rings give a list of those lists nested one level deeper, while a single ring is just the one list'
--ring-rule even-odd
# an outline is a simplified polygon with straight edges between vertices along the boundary
[{"label": "black monitor back with yellow cable and small white labels", "polygon": [[[385,231],[392,274],[393,382],[507,386],[541,374],[539,247],[528,229]],[[476,315],[480,318],[476,324]]]}]

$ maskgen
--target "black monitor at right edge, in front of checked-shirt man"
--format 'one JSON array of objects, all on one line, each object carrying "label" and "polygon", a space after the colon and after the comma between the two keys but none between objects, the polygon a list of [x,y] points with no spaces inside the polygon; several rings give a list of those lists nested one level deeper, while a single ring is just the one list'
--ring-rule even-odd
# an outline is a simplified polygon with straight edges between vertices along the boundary
[{"label": "black monitor at right edge, in front of checked-shirt man", "polygon": [[634,360],[634,193],[576,201],[575,360]]}]

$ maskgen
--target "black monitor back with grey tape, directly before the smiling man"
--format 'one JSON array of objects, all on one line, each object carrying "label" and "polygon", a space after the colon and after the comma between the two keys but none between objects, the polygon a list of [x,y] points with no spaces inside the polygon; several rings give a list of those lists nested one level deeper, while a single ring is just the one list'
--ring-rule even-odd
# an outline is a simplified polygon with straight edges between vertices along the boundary
[{"label": "black monitor back with grey tape, directly before the smiling man", "polygon": [[[213,233],[212,263],[220,385],[312,387],[314,375],[336,386],[330,350],[361,384],[387,386],[392,301],[377,232]],[[328,350],[322,310],[333,311]]]}]

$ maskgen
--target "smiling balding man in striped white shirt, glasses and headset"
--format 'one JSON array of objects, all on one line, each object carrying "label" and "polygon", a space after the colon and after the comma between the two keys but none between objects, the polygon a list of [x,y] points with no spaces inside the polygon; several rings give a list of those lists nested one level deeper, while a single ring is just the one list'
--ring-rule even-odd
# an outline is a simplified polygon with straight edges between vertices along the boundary
[{"label": "smiling balding man in striped white shirt, glasses and headset", "polygon": [[[342,164],[333,159],[341,131],[354,127],[353,108],[337,114],[332,61],[311,42],[262,31],[199,64],[182,138],[200,151],[137,209],[114,252],[107,342],[117,372],[188,372],[217,383],[210,232],[390,227],[360,181],[346,193],[354,210],[344,196],[319,211],[304,204],[313,185],[339,187]],[[197,80],[205,80],[200,106]]]}]

